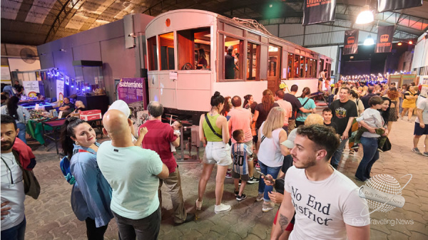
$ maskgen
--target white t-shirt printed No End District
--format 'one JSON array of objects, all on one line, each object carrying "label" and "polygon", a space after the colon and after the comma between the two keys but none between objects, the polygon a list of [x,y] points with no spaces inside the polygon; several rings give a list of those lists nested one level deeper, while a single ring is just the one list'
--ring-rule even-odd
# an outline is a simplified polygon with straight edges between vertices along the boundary
[{"label": "white t-shirt printed No End District", "polygon": [[358,196],[357,185],[336,169],[333,171],[327,179],[310,181],[305,169],[293,166],[287,170],[284,189],[291,194],[295,207],[290,240],[345,240],[345,224],[370,224],[367,202]]}]

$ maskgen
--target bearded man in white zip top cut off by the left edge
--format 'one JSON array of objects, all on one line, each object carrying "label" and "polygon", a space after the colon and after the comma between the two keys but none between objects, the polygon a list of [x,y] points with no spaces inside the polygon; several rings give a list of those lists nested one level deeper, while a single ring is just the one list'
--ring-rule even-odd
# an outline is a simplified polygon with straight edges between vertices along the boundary
[{"label": "bearded man in white zip top cut off by the left edge", "polygon": [[18,133],[14,118],[1,115],[1,239],[21,240],[25,235],[22,169],[12,152]]}]

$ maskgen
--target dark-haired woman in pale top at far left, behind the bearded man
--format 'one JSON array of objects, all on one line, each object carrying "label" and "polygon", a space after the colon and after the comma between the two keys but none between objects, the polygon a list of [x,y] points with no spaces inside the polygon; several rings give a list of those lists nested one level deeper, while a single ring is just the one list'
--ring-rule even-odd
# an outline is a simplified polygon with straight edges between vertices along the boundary
[{"label": "dark-haired woman in pale top at far left, behind the bearded man", "polygon": [[18,138],[22,140],[22,142],[25,142],[25,132],[26,132],[26,122],[30,120],[30,113],[28,110],[23,108],[21,105],[18,105],[19,98],[16,96],[13,96],[9,98],[9,102],[7,105],[4,105],[1,107],[1,114],[9,115],[16,121],[16,127],[19,128]]}]

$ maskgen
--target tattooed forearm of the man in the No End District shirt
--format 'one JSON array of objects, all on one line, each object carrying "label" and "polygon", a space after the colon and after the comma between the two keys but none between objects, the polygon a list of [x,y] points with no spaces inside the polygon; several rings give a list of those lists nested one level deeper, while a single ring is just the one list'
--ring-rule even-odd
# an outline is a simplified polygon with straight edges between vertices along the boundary
[{"label": "tattooed forearm of the man in the No End District shirt", "polygon": [[278,210],[277,223],[275,227],[272,229],[272,233],[270,234],[270,239],[279,239],[281,234],[287,229],[288,224],[292,219],[292,215],[295,212],[295,208],[291,202],[291,194],[290,192],[284,192],[284,198],[282,199],[282,204],[280,209]]}]

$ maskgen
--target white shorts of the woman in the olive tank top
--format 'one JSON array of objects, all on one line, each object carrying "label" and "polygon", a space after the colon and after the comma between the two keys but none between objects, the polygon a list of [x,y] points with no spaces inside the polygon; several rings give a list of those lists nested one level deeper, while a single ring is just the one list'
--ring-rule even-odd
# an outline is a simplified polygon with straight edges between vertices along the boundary
[{"label": "white shorts of the woman in the olive tank top", "polygon": [[207,142],[203,161],[209,165],[217,163],[219,166],[229,166],[232,164],[230,145],[224,142]]}]

